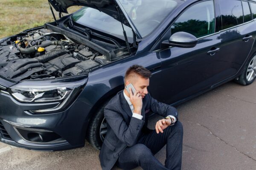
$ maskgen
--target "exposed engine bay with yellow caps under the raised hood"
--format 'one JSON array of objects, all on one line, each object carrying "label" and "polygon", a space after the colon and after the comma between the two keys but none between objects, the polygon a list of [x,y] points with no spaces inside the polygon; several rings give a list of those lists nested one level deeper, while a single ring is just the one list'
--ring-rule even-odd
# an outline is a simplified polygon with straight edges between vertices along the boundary
[{"label": "exposed engine bay with yellow caps under the raised hood", "polygon": [[88,74],[110,62],[87,45],[47,28],[0,42],[0,75],[15,82]]}]

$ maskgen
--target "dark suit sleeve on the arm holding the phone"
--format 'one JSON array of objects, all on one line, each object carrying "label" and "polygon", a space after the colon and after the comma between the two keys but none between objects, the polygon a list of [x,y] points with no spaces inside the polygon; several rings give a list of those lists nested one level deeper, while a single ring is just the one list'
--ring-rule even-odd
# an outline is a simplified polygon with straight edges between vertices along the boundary
[{"label": "dark suit sleeve on the arm holding the phone", "polygon": [[145,123],[144,120],[131,117],[130,124],[126,125],[123,116],[114,105],[106,105],[104,116],[119,140],[129,147],[136,144],[140,130]]}]

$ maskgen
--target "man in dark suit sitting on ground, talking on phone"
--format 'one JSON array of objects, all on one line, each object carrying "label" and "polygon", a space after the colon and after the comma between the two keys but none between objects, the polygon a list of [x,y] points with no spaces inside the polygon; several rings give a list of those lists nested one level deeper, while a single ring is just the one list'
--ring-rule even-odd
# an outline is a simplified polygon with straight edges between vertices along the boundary
[{"label": "man in dark suit sitting on ground, talking on phone", "polygon": [[[131,66],[125,74],[125,86],[132,83],[136,92],[124,89],[105,106],[108,132],[99,154],[102,169],[110,170],[116,163],[122,169],[140,166],[146,170],[180,170],[183,127],[174,107],[148,94],[150,77],[146,68]],[[147,128],[149,111],[166,117],[157,121],[155,130]],[[165,144],[164,166],[154,154]]]}]

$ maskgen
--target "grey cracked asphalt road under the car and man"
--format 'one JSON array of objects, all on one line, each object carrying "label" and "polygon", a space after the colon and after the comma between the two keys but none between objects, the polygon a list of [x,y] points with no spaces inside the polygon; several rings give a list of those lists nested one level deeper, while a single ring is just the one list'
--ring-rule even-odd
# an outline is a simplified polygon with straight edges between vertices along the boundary
[{"label": "grey cracked asphalt road under the car and man", "polygon": [[[256,170],[256,82],[246,87],[229,82],[177,109],[184,127],[183,170]],[[165,149],[156,154],[162,163]],[[0,169],[100,170],[98,155],[88,143],[59,152],[0,143]]]}]

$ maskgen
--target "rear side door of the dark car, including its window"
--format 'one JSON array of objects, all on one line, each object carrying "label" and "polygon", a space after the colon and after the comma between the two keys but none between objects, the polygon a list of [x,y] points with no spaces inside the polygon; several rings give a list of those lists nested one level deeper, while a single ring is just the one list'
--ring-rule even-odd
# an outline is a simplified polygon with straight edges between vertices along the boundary
[{"label": "rear side door of the dark car, including its window", "polygon": [[[247,1],[218,0],[221,11],[222,29],[220,67],[221,79],[235,75],[253,46],[256,24]],[[217,81],[216,81],[217,82]]]}]

